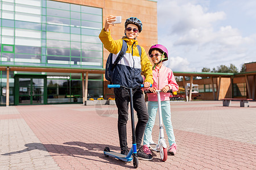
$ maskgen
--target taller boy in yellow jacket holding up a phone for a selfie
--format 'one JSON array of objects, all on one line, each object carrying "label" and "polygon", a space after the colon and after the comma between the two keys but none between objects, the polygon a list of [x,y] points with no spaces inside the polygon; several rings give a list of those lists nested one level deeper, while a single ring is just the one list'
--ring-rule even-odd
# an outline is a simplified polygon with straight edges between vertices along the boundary
[{"label": "taller boy in yellow jacket holding up a phone for a selfie", "polygon": [[[110,25],[115,21],[115,16],[106,18],[105,27],[102,29],[99,37],[104,47],[113,53],[113,61],[117,58],[121,48],[122,39],[127,42],[127,51],[121,61],[118,62],[114,70],[114,84],[120,84],[125,87],[137,87],[143,84],[141,72],[145,77],[144,87],[150,87],[153,83],[152,79],[152,65],[147,57],[147,54],[142,48],[141,57],[137,48],[138,41],[136,38],[142,31],[141,20],[135,17],[126,19],[125,22],[125,36],[119,40],[113,40],[110,35]],[[121,147],[121,154],[127,155],[129,150],[127,148],[126,124],[128,120],[128,105],[130,101],[129,93],[123,88],[114,88],[115,103],[118,108],[118,134],[119,143]],[[141,149],[142,137],[148,121],[148,112],[146,103],[144,101],[143,92],[140,88],[133,89],[134,109],[137,112],[138,123],[135,128],[135,135],[137,141],[138,158],[142,160],[152,160],[151,155],[147,155]]]}]

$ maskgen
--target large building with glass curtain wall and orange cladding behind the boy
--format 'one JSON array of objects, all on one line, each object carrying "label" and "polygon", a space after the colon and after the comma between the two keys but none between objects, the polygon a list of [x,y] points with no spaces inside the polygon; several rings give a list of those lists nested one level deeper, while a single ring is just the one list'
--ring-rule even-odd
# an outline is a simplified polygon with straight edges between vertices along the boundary
[{"label": "large building with glass curtain wall and orange cladding behind the boy", "polygon": [[122,16],[113,39],[135,16],[143,23],[140,45],[147,51],[157,42],[156,1],[1,0],[0,105],[82,103],[108,94],[109,52],[98,35],[109,15]]}]

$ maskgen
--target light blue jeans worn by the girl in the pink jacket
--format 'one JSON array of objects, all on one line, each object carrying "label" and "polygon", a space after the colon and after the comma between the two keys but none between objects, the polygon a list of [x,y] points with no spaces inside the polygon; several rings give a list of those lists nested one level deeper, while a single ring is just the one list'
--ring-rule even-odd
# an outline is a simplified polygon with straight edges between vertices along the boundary
[{"label": "light blue jeans worn by the girl in the pink jacket", "polygon": [[[175,143],[175,137],[174,137],[174,129],[172,128],[172,122],[171,122],[170,101],[161,101],[161,108],[162,108],[163,124],[164,124],[164,127],[166,128],[169,145],[172,146],[172,144]],[[158,111],[158,101],[148,101],[147,109],[148,109],[149,118],[146,125],[145,133],[144,133],[143,145],[150,144],[152,129],[155,125],[155,116],[156,116],[156,112]]]}]

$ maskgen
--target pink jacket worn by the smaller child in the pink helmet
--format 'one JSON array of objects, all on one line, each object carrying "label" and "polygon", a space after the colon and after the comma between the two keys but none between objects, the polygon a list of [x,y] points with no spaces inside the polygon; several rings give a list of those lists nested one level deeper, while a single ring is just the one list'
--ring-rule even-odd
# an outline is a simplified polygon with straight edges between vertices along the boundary
[{"label": "pink jacket worn by the smaller child in the pink helmet", "polygon": [[[155,70],[153,70],[153,79],[154,83],[152,84],[152,87],[156,87],[156,89],[161,90],[164,86],[169,86],[170,90],[178,91],[179,85],[177,84],[175,80],[174,73],[172,73],[172,70],[164,65],[158,69],[158,67],[155,67]],[[170,93],[160,93],[161,101],[167,101],[170,100]],[[158,101],[157,94],[147,94],[148,101]]]}]

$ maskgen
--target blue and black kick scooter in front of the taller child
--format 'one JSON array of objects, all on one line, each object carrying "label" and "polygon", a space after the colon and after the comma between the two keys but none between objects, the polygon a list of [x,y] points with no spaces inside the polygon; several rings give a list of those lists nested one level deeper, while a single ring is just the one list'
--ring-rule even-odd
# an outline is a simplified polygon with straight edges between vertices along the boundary
[{"label": "blue and black kick scooter in front of the taller child", "polygon": [[134,168],[138,168],[139,160],[138,160],[138,155],[137,155],[137,143],[136,143],[135,125],[134,125],[133,89],[138,88],[138,87],[144,87],[144,85],[141,84],[140,86],[129,88],[129,87],[120,86],[119,84],[108,84],[108,88],[120,88],[120,87],[123,87],[123,88],[126,88],[127,90],[129,90],[130,109],[131,109],[131,130],[132,130],[132,134],[133,134],[133,146],[131,147],[131,150],[129,151],[128,155],[123,155],[123,154],[119,154],[117,152],[110,151],[109,147],[105,147],[104,155],[106,157],[112,156],[113,158],[117,158],[119,160],[122,160],[123,162],[131,162],[131,160],[133,160]]}]

